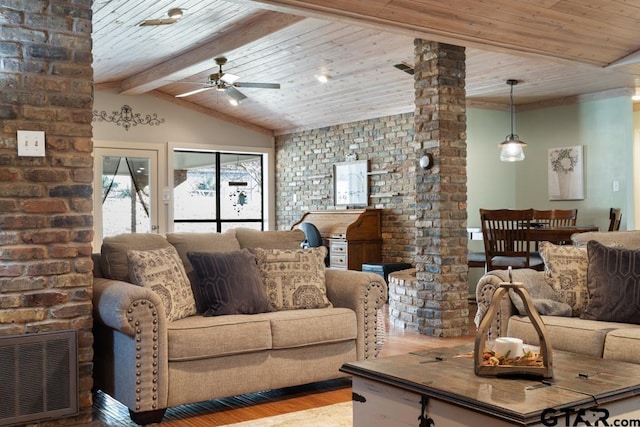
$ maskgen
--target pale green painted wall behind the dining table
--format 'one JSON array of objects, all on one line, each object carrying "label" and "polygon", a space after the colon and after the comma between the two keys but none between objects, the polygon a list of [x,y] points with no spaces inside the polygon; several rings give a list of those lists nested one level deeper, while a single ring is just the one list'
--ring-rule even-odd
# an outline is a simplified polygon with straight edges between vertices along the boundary
[{"label": "pale green painted wall behind the dining table", "polygon": [[[640,116],[636,114],[636,126]],[[516,114],[515,131],[527,142],[523,162],[503,163],[497,144],[509,133],[509,113],[469,109],[468,225],[479,226],[479,208],[578,209],[578,223],[606,230],[609,208],[622,208],[621,229],[634,229],[633,136],[630,97],[549,107]],[[550,148],[584,146],[585,198],[549,201]],[[613,181],[620,191],[614,192]],[[471,250],[482,245],[471,242]]]}]

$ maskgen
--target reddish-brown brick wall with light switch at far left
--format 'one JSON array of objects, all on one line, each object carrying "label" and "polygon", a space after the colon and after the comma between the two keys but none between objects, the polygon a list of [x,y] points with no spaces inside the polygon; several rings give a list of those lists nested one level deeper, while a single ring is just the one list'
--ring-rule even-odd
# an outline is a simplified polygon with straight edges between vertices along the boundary
[{"label": "reddish-brown brick wall with light switch at far left", "polygon": [[[78,332],[81,414],[91,419],[91,0],[0,5],[0,336]],[[46,133],[18,157],[17,130]]]}]

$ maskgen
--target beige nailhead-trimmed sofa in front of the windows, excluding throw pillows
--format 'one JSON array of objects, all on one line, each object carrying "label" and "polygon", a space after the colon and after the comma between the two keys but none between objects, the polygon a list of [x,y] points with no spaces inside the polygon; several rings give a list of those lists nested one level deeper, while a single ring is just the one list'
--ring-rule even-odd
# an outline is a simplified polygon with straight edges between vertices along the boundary
[{"label": "beige nailhead-trimmed sofa in front of the windows, excluding throw pillows", "polygon": [[[339,368],[345,362],[376,357],[387,287],[373,273],[327,269],[331,308],[175,321],[167,320],[158,294],[126,276],[129,249],[172,242],[186,260],[189,251],[299,249],[303,239],[300,230],[250,229],[105,239],[94,256],[94,388],[126,405],[138,424],[148,424],[159,422],[167,407],[330,380],[344,376]],[[190,268],[185,265],[195,280]]]}]

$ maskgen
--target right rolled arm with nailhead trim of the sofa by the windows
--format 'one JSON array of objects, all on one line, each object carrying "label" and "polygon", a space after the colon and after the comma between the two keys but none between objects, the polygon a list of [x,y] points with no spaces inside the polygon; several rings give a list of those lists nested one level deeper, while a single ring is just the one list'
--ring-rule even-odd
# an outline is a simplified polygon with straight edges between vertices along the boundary
[{"label": "right rolled arm with nailhead trim of the sofa by the windows", "polygon": [[[356,313],[358,360],[373,359],[380,349],[377,346],[379,309],[387,300],[387,283],[374,273],[354,270],[327,269],[325,274],[327,297],[334,307],[350,308]],[[384,337],[382,337],[384,338]]]}]

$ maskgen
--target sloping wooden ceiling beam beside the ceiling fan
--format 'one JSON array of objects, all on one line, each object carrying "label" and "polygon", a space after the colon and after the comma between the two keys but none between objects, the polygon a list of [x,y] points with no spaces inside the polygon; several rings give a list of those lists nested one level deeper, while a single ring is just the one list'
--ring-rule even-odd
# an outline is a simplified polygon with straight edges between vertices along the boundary
[{"label": "sloping wooden ceiling beam beside the ceiling fan", "polygon": [[162,64],[124,79],[120,84],[123,95],[140,95],[167,84],[201,73],[215,66],[213,58],[252,43],[276,31],[305,19],[273,11],[260,11],[224,30],[215,39],[176,56]]}]

